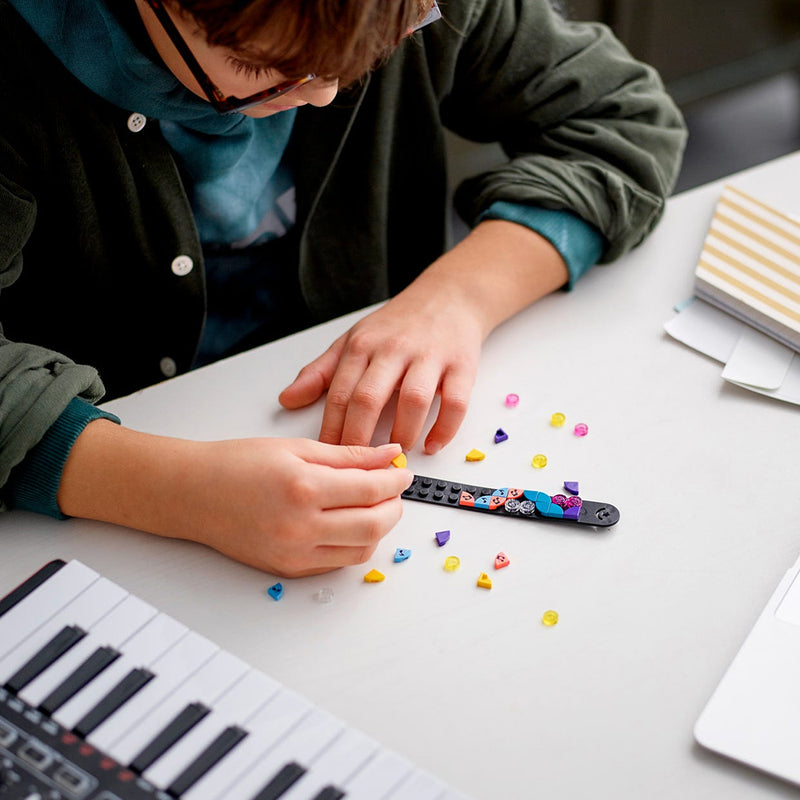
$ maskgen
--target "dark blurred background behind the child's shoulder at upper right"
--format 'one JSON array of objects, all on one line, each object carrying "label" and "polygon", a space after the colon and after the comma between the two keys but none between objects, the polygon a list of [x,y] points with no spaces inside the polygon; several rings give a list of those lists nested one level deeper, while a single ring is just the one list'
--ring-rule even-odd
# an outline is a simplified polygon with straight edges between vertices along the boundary
[{"label": "dark blurred background behind the child's shoulder at upper right", "polygon": [[676,191],[800,149],[800,0],[562,0],[656,67],[689,126]]}]

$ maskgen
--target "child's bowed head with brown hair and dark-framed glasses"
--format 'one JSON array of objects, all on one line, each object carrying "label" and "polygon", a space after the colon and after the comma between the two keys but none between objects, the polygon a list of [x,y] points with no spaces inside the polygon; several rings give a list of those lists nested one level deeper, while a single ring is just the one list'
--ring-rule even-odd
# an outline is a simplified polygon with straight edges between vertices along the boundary
[{"label": "child's bowed head with brown hair and dark-framed glasses", "polygon": [[[218,111],[248,109],[251,116],[329,103],[340,83],[352,83],[385,58],[434,5],[433,0],[137,2],[156,49],[179,80]],[[281,91],[270,95],[276,88]]]}]

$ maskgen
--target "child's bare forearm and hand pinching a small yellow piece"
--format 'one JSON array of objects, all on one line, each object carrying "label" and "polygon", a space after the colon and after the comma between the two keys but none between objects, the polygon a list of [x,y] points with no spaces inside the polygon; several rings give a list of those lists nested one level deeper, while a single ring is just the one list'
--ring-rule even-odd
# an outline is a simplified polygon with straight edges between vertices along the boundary
[{"label": "child's bare forearm and hand pinching a small yellow piece", "polygon": [[371,557],[412,479],[386,469],[400,452],[310,439],[194,442],[96,420],[70,453],[58,500],[70,516],[191,539],[298,577]]}]

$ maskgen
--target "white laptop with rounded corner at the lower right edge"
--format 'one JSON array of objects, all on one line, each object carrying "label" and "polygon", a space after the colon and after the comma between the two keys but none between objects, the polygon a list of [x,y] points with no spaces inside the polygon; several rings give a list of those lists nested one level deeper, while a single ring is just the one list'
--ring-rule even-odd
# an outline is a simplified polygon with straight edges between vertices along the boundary
[{"label": "white laptop with rounded corner at the lower right edge", "polygon": [[694,735],[710,750],[800,784],[800,559],[773,592]]}]

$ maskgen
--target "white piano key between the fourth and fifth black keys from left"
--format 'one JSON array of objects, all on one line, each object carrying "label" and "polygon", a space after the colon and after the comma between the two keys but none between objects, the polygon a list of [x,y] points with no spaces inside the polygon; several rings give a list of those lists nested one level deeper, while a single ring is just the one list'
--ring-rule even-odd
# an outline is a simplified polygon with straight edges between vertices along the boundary
[{"label": "white piano key between the fourth and fifth black keys from left", "polygon": [[144,777],[159,787],[172,781],[229,725],[247,728],[246,722],[280,689],[280,684],[263,672],[251,669],[223,694],[211,713],[195,725],[147,769]]}]

